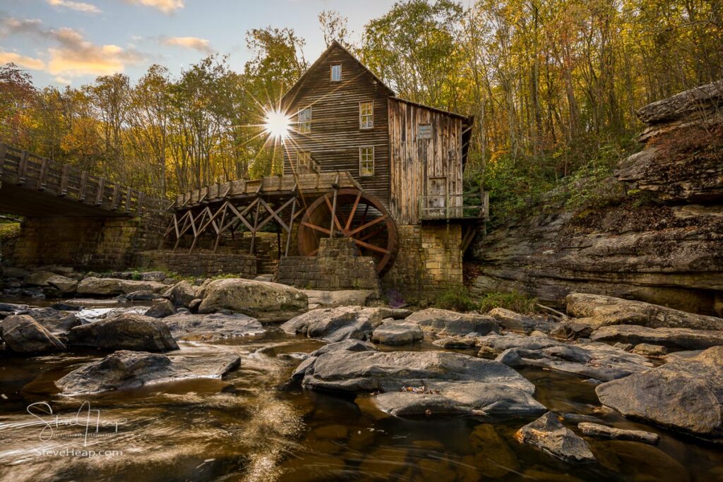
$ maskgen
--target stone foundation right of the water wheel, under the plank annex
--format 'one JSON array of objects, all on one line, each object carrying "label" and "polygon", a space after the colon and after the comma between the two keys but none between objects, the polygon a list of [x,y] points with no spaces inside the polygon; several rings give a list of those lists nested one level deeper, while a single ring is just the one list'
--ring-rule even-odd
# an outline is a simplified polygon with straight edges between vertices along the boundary
[{"label": "stone foundation right of the water wheel, under the plank annex", "polygon": [[430,300],[445,287],[462,284],[461,225],[402,225],[397,229],[399,252],[382,279],[385,291]]}]

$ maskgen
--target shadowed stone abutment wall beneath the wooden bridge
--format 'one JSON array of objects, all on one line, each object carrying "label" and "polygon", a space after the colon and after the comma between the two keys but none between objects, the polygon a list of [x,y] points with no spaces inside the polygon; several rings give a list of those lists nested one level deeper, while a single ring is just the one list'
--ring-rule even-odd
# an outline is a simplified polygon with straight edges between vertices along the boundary
[{"label": "shadowed stone abutment wall beneath the wooden bridge", "polygon": [[137,254],[157,249],[167,220],[142,218],[26,218],[10,261],[16,266],[61,264],[114,270],[136,264]]}]

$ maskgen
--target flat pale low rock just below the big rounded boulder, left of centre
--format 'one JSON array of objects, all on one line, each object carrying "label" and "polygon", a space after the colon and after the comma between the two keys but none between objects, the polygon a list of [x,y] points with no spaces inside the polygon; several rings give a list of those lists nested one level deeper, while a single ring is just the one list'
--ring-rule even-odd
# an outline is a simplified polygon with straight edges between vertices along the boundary
[{"label": "flat pale low rock just below the big rounded boulder, left of centre", "polygon": [[163,323],[177,340],[220,340],[266,332],[260,322],[245,314],[179,313],[163,318]]}]

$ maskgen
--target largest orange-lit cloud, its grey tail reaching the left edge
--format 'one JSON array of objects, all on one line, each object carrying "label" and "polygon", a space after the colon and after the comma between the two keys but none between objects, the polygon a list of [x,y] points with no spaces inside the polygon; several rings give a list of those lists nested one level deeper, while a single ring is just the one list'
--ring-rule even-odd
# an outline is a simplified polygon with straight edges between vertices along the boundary
[{"label": "largest orange-lit cloud, its grey tail reaching the left edge", "polygon": [[85,40],[72,28],[46,29],[40,20],[4,19],[3,33],[22,33],[54,43],[48,47],[46,71],[53,75],[107,75],[123,72],[128,64],[138,64],[143,56],[133,49],[114,45],[98,46]]}]

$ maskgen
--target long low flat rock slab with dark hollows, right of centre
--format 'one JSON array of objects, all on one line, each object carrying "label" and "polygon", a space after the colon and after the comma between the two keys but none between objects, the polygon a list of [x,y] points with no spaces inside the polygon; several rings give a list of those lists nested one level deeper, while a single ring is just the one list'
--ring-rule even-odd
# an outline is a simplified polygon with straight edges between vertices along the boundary
[{"label": "long low flat rock slab with dark hollows, right of centre", "polygon": [[[507,338],[505,340],[505,338]],[[628,353],[605,343],[570,345],[545,337],[508,334],[487,335],[478,340],[481,355],[489,356],[502,347],[497,358],[507,366],[536,366],[608,381],[651,368],[644,356]],[[483,351],[484,350],[484,351]]]}]

